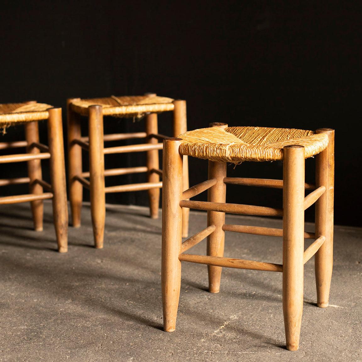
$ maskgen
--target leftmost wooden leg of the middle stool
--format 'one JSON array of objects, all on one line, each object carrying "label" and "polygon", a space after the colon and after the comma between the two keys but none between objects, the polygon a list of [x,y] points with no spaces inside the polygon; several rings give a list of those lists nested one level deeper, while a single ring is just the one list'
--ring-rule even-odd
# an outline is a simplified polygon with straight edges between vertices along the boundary
[{"label": "leftmost wooden leg of the middle stool", "polygon": [[70,106],[72,101],[78,99],[67,100],[69,199],[73,227],[80,227],[83,201],[83,185],[75,180],[75,176],[81,176],[82,173],[82,148],[74,142],[81,137],[80,115],[75,113]]}]

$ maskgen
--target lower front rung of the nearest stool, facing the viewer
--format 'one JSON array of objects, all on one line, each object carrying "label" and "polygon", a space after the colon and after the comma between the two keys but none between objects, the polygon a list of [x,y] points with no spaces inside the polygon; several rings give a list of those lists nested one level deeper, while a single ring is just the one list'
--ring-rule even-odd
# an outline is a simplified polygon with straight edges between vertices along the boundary
[{"label": "lower front rung of the nearest stool, facing the viewer", "polygon": [[226,268],[249,269],[249,270],[264,270],[264,271],[283,271],[281,264],[265,263],[262,261],[243,260],[224,258],[219,256],[195,255],[195,254],[180,254],[178,257],[181,261],[191,263],[213,265],[218,267],[225,266]]}]

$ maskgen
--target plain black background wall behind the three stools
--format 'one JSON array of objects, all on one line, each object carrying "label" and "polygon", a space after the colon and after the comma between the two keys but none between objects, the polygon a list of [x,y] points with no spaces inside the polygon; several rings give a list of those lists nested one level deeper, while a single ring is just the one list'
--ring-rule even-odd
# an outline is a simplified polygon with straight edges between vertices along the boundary
[{"label": "plain black background wall behind the three stools", "polygon": [[[187,100],[190,130],[210,122],[333,128],[335,223],[361,226],[361,9],[353,4],[358,2],[2,1],[0,102],[35,99],[65,109],[69,97],[155,92]],[[65,126],[65,112],[63,117]],[[160,133],[171,134],[171,114],[159,121]],[[143,125],[106,118],[105,132]],[[23,138],[23,128],[0,138]],[[46,142],[45,124],[41,139]],[[141,153],[109,155],[106,168],[144,160]],[[49,164],[43,163],[49,180]],[[313,159],[306,164],[312,182]],[[205,180],[206,168],[205,161],[191,159],[190,184]],[[280,162],[228,170],[230,176],[282,178]],[[1,178],[25,174],[24,163],[1,166]],[[118,176],[106,185],[144,180]],[[106,201],[148,203],[145,191],[109,194]],[[281,190],[228,186],[227,201],[281,207]]]}]

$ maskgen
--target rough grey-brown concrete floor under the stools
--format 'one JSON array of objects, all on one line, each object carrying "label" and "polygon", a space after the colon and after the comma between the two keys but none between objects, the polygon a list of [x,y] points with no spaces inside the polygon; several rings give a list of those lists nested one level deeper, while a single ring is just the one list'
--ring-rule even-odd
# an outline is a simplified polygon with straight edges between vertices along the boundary
[{"label": "rough grey-brown concrete floor under the stools", "polygon": [[[336,226],[331,298],[317,308],[305,266],[298,352],[285,349],[282,274],[223,270],[210,294],[205,265],[182,264],[177,329],[161,330],[161,220],[140,207],[107,207],[105,248],[92,248],[89,206],[55,252],[51,204],[31,230],[28,204],[0,209],[0,361],[362,361],[362,229]],[[205,226],[192,212],[190,232]],[[227,216],[280,227],[280,220]],[[307,224],[307,231],[313,225]],[[307,241],[308,245],[311,241]],[[281,238],[227,233],[226,256],[281,263]],[[205,251],[205,241],[195,253]]]}]

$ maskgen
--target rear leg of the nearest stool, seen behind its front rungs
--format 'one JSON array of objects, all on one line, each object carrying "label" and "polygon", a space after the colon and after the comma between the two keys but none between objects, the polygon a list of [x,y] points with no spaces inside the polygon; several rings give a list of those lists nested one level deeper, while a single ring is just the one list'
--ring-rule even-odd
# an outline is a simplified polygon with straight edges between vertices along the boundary
[{"label": "rear leg of the nearest stool, seen behind its front rungs", "polygon": [[[226,163],[209,161],[209,180],[216,178],[216,184],[207,191],[207,201],[226,202]],[[224,256],[225,232],[222,227],[225,224],[225,213],[207,211],[207,226],[215,225],[216,229],[207,237],[207,255]],[[209,291],[218,293],[220,291],[221,266],[208,265]]]}]

